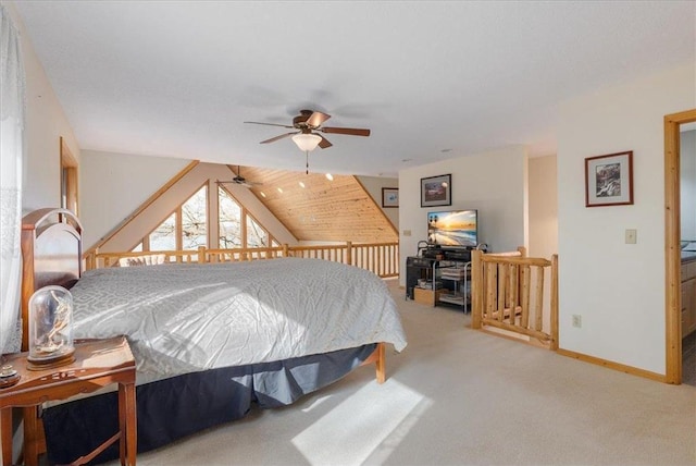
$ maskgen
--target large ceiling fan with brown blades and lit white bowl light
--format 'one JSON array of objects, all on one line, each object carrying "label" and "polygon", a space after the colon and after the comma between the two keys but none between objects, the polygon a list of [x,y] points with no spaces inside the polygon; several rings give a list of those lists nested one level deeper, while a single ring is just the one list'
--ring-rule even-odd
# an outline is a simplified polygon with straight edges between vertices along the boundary
[{"label": "large ceiling fan with brown blades and lit white bowl light", "polygon": [[328,120],[331,115],[326,113],[322,113],[320,111],[312,110],[300,110],[300,114],[293,119],[293,124],[276,124],[276,123],[262,123],[258,121],[245,121],[245,123],[251,124],[264,124],[268,126],[281,126],[287,127],[290,130],[296,130],[290,133],[285,133],[279,136],[272,137],[270,139],[262,140],[261,144],[275,143],[276,140],[286,138],[288,136],[293,136],[293,140],[297,144],[297,147],[303,151],[314,150],[316,146],[322,149],[326,149],[332,146],[332,144],[320,133],[333,133],[333,134],[345,134],[349,136],[370,136],[370,130],[362,130],[356,127],[330,127],[322,126],[322,124]]}]

